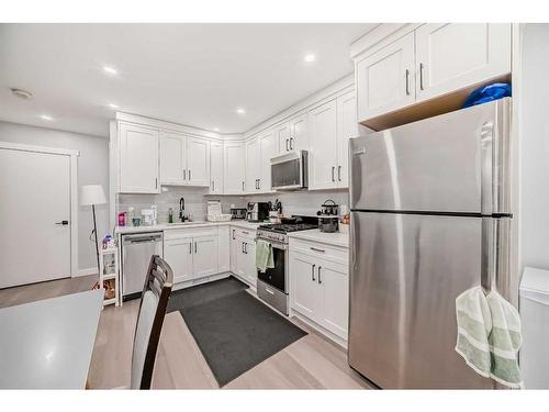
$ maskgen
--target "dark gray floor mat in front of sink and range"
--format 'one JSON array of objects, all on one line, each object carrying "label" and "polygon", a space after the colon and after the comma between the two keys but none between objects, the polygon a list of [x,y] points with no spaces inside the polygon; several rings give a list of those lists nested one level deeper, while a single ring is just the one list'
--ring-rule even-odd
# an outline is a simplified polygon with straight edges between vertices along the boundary
[{"label": "dark gray floor mat in front of sink and range", "polygon": [[170,298],[168,312],[179,310],[220,387],[306,335],[246,289],[231,277]]}]

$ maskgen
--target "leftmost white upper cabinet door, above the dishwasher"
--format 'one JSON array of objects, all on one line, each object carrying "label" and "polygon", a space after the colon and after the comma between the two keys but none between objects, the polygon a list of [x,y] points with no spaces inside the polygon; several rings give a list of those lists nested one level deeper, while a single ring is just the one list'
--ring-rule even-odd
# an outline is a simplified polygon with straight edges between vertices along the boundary
[{"label": "leftmost white upper cabinet door, above the dishwasher", "polygon": [[120,124],[120,192],[158,193],[158,131]]}]

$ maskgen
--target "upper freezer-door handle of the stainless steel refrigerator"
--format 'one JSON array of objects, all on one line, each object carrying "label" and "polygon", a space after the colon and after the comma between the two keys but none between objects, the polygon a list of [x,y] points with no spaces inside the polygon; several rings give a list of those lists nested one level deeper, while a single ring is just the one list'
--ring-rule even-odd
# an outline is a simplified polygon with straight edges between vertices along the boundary
[{"label": "upper freezer-door handle of the stainless steel refrigerator", "polygon": [[493,157],[494,157],[494,122],[489,121],[481,129],[481,213],[492,214],[493,190],[495,181],[493,180]]}]

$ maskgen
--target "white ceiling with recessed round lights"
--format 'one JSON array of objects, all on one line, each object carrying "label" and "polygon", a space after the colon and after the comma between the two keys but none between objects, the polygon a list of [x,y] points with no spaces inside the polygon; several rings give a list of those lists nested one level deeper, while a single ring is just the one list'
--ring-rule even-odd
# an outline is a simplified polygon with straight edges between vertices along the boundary
[{"label": "white ceiling with recessed round lights", "polygon": [[[351,73],[349,44],[374,26],[0,24],[0,120],[107,136],[113,102],[243,133]],[[314,63],[303,59],[310,53]],[[105,75],[104,65],[119,74]],[[10,88],[34,97],[15,98]]]}]

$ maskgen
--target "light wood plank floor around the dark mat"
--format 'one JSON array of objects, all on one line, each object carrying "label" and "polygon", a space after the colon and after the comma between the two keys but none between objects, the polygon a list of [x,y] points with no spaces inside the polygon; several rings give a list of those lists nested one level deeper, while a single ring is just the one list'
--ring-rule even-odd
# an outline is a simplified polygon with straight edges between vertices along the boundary
[{"label": "light wood plank floor around the dark mat", "polygon": [[[96,276],[61,279],[0,290],[0,308],[90,289]],[[101,313],[88,375],[90,389],[127,387],[138,301]],[[292,320],[309,335],[287,346],[223,387],[224,389],[368,389],[347,365],[344,349]],[[179,312],[166,315],[153,387],[156,389],[219,388],[200,348]]]}]

